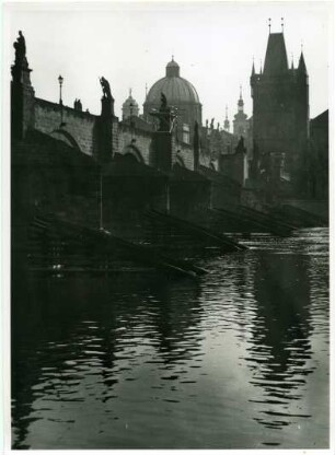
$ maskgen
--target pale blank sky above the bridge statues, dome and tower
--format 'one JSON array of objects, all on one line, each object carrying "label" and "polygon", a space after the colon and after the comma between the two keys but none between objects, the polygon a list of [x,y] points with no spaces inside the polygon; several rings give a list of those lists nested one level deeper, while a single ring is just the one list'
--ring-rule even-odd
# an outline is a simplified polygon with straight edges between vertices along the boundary
[{"label": "pale blank sky above the bridge statues, dome and tower", "polygon": [[83,108],[100,113],[99,77],[111,83],[116,115],[132,88],[140,104],[150,88],[164,77],[174,55],[181,75],[190,81],[203,104],[203,119],[222,125],[236,112],[242,84],[245,112],[252,114],[250,74],[264,61],[272,31],[281,31],[289,61],[297,66],[303,44],[310,77],[311,118],[328,107],[328,45],[331,3],[317,2],[197,2],[197,3],[81,3],[11,4],[8,24],[10,62],[12,43],[22,30],[32,83],[38,97],[57,102],[58,75],[65,78],[63,102],[76,97]]}]

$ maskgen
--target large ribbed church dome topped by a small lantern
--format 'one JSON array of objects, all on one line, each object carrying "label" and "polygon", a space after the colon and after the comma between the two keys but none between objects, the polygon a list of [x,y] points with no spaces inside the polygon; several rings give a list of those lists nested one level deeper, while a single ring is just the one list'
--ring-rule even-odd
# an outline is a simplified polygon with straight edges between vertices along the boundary
[{"label": "large ribbed church dome topped by a small lantern", "polygon": [[199,96],[193,84],[180,75],[180,66],[173,59],[166,65],[165,78],[157,81],[146,98],[146,103],[160,105],[161,93],[164,93],[168,105],[180,105],[181,103],[200,104]]}]

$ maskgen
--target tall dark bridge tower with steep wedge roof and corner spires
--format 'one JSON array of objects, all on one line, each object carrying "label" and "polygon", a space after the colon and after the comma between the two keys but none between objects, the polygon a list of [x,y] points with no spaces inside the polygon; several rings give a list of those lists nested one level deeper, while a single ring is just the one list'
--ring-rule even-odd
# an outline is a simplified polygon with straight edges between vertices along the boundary
[{"label": "tall dark bridge tower with steep wedge roof and corner spires", "polygon": [[264,70],[257,74],[253,65],[251,92],[254,171],[270,178],[280,161],[297,187],[309,136],[309,79],[302,51],[298,69],[289,69],[284,31],[272,33],[270,25]]}]

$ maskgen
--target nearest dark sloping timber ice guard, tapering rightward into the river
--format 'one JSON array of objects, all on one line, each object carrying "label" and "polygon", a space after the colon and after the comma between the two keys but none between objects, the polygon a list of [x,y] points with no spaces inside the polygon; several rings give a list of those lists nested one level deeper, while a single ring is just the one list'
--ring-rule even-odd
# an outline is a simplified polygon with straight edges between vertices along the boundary
[{"label": "nearest dark sloping timber ice guard, tapering rightward into the river", "polygon": [[70,223],[54,215],[36,217],[31,230],[35,269],[61,272],[129,271],[136,264],[137,270],[146,267],[181,277],[196,278],[206,273],[200,267],[134,244],[106,230]]}]

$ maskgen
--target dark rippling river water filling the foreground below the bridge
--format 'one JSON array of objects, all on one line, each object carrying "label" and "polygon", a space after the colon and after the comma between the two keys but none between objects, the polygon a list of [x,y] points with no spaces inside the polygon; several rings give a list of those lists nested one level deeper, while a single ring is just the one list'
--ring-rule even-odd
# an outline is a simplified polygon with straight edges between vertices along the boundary
[{"label": "dark rippling river water filling the foreground below the bridge", "polygon": [[16,273],[13,448],[327,447],[328,231],[242,241],[198,282]]}]

